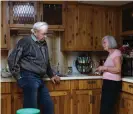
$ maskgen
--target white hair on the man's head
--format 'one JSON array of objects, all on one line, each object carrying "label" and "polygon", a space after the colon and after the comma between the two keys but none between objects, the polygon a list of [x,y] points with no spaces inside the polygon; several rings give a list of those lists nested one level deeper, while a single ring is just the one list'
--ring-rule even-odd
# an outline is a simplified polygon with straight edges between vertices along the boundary
[{"label": "white hair on the man's head", "polygon": [[48,29],[48,24],[46,22],[36,22],[33,25],[32,29],[31,29],[31,32],[35,33],[35,31],[40,30],[42,28],[47,30]]}]

